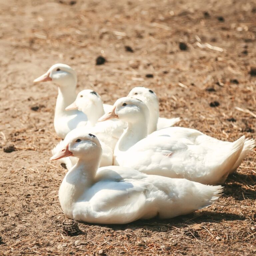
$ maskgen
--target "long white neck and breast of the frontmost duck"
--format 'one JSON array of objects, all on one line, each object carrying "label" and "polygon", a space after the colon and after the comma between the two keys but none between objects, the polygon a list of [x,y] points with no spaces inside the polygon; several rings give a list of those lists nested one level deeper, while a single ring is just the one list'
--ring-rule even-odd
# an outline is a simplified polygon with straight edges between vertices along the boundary
[{"label": "long white neck and breast of the frontmost duck", "polygon": [[92,161],[79,159],[65,175],[59,189],[59,201],[64,214],[68,217],[73,217],[74,203],[94,184],[99,160],[100,158]]}]

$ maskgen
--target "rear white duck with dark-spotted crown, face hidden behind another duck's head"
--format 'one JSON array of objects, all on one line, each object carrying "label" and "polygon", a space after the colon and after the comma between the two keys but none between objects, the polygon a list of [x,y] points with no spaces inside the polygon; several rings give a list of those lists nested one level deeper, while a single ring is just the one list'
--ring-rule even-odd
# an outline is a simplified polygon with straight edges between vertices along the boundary
[{"label": "rear white duck with dark-spotted crown, face hidden behind another duck's head", "polygon": [[149,109],[148,134],[166,127],[173,126],[180,118],[159,117],[159,101],[156,94],[146,87],[134,87],[127,97],[143,101]]}]

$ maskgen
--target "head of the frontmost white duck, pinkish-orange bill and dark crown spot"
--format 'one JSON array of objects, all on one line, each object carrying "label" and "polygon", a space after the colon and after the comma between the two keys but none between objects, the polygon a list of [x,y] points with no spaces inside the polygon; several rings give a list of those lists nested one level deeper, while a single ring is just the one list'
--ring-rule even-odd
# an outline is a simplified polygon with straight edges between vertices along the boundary
[{"label": "head of the frontmost white duck, pinkish-orange bill and dark crown spot", "polygon": [[64,144],[66,146],[52,156],[51,160],[75,156],[79,159],[91,161],[102,153],[98,138],[91,133],[86,133],[84,128],[76,128],[70,131],[64,139]]}]

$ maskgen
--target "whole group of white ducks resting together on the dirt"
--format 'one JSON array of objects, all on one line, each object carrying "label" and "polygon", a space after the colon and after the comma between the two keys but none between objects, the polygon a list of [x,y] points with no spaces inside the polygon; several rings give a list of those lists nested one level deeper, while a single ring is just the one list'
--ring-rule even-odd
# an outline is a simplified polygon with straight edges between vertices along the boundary
[{"label": "whole group of white ducks resting together on the dirt", "polygon": [[77,76],[68,65],[55,64],[34,80],[45,81],[58,85],[54,128],[63,140],[51,160],[68,169],[59,201],[70,219],[124,224],[209,206],[255,147],[245,136],[227,142],[171,127],[180,119],[160,118],[158,98],[145,87],[112,106],[93,90],[76,95]]}]

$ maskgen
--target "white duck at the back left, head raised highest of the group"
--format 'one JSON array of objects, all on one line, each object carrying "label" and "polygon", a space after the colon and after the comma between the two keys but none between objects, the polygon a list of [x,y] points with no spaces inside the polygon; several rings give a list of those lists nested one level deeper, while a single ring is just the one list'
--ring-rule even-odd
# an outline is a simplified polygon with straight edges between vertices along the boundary
[{"label": "white duck at the back left, head raised highest of the group", "polygon": [[[87,116],[78,110],[65,111],[76,99],[77,76],[75,71],[66,64],[55,64],[34,80],[34,83],[52,81],[58,85],[58,97],[54,114],[54,129],[57,135],[64,139],[67,133],[80,125],[85,125]],[[107,112],[111,105],[105,106]]]}]

